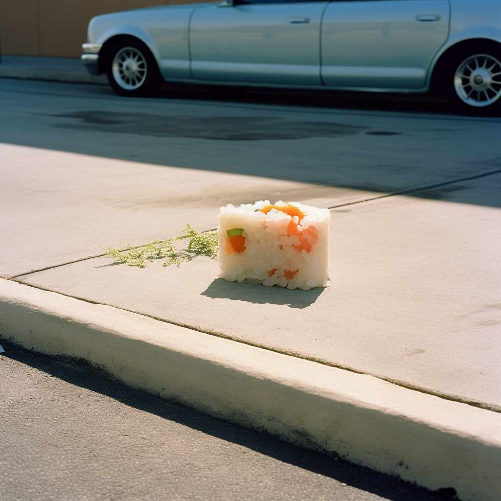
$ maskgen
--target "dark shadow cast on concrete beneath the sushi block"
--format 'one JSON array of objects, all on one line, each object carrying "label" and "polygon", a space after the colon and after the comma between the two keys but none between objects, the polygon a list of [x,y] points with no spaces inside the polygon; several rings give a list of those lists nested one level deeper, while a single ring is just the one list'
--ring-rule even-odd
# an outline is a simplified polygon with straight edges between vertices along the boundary
[{"label": "dark shadow cast on concrete beneath the sushi block", "polygon": [[282,287],[265,287],[254,284],[239,284],[228,282],[224,279],[215,279],[201,293],[213,299],[234,299],[248,303],[274,305],[287,305],[290,308],[307,308],[315,303],[317,298],[324,292],[324,287],[315,287],[309,291],[301,289],[290,290]]}]

